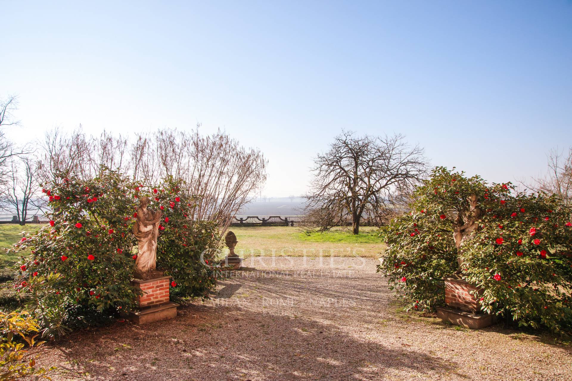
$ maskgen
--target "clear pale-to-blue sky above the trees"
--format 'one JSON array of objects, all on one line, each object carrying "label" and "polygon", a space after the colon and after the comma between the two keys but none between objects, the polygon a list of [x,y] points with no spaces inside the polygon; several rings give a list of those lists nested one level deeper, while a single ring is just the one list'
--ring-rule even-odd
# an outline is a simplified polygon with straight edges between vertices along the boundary
[{"label": "clear pale-to-blue sky above the trees", "polygon": [[495,182],[572,146],[572,1],[4,2],[18,141],[221,127],[301,194],[341,129],[402,133]]}]

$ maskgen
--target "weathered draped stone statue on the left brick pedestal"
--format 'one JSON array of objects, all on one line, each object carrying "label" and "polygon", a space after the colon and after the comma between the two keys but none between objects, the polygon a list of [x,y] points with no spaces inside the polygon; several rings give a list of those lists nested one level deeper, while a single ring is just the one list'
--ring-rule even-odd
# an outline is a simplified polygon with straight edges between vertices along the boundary
[{"label": "weathered draped stone statue on the left brick pedestal", "polygon": [[133,226],[133,234],[139,243],[139,252],[135,262],[135,274],[142,279],[156,276],[157,236],[162,212],[148,209],[149,198],[142,197],[137,209],[137,221]]}]

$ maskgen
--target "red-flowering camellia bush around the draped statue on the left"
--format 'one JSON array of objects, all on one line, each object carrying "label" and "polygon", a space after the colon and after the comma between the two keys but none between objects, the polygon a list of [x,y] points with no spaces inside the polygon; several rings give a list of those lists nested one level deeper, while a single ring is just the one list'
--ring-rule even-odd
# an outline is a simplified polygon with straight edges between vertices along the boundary
[{"label": "red-flowering camellia bush around the draped statue on the left", "polygon": [[[137,259],[133,224],[138,198],[149,195],[151,208],[163,211],[157,268],[173,276],[174,294],[205,296],[214,285],[213,250],[219,242],[215,223],[194,222],[193,198],[181,182],[144,187],[112,170],[88,181],[61,177],[43,192],[52,212],[49,226],[24,236],[15,250],[29,249],[18,264],[17,288],[41,323],[45,336],[58,336],[74,319],[91,323],[97,313],[117,314],[135,306],[130,284]],[[205,253],[205,254],[204,254]],[[204,260],[201,261],[201,259]],[[85,320],[91,320],[85,321]]]}]

